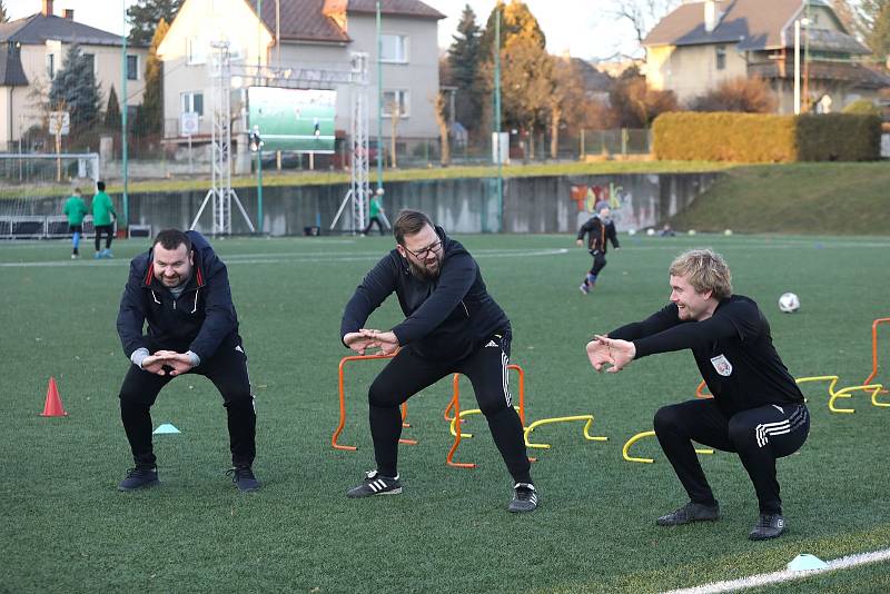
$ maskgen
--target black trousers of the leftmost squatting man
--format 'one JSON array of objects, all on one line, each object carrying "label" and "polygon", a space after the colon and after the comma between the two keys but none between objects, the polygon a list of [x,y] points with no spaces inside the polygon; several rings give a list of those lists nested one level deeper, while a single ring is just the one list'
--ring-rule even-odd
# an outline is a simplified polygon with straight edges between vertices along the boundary
[{"label": "black trousers of the leftmost squatting man", "polygon": [[[151,353],[155,350],[158,348],[149,348]],[[224,343],[208,362],[201,362],[189,373],[207,377],[219,390],[228,417],[231,462],[235,466],[250,466],[256,456],[257,416],[247,376],[247,355],[240,340],[236,345]],[[170,379],[168,375],[151,374],[130,365],[120,387],[120,418],[139,467],[155,466],[149,410]]]}]

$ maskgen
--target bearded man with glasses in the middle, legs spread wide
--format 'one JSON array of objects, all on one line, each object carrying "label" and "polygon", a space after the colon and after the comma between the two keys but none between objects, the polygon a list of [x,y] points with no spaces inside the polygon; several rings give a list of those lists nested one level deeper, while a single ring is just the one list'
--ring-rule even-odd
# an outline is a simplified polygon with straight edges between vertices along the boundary
[{"label": "bearded man with glasses in the middle, legs spread wide", "polygon": [[[358,354],[378,348],[395,357],[368,390],[377,468],[348,497],[402,493],[397,471],[399,406],[443,377],[473,383],[479,409],[513,477],[510,512],[533,512],[538,493],[530,474],[520,416],[507,383],[511,326],[488,295],[478,265],[425,214],[404,210],[393,225],[396,247],[356,288],[340,325],[343,344]],[[395,293],[405,320],[389,330],[365,328],[370,314]]]}]

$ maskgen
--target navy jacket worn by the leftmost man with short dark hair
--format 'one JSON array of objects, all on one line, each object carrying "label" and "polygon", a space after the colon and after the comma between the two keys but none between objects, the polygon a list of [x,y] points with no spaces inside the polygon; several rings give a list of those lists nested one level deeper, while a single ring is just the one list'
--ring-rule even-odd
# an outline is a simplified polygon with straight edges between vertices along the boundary
[{"label": "navy jacket worn by the leftmost man with short dark hair", "polygon": [[[207,239],[187,231],[195,251],[195,267],[186,289],[174,298],[155,278],[152,250],[130,261],[130,277],[120,299],[118,335],[129,357],[139,348],[185,353],[191,350],[207,362],[227,343],[239,344],[238,316],[231,303],[228,271]],[[148,333],[142,334],[148,321]]]}]

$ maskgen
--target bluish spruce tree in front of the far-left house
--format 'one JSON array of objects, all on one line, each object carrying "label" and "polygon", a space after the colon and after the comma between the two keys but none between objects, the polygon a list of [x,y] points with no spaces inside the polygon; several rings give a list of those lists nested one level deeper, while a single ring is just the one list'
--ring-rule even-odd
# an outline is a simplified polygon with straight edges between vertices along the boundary
[{"label": "bluish spruce tree in front of the far-left house", "polygon": [[71,43],[61,70],[56,73],[49,89],[50,108],[68,111],[71,126],[90,126],[99,118],[101,91],[92,71],[92,61]]}]

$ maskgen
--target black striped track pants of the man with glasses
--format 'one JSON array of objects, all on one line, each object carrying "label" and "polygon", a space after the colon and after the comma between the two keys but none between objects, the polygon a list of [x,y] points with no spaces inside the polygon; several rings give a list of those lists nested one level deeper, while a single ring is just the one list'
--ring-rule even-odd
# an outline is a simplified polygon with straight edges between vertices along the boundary
[{"label": "black striped track pants of the man with glasses", "polygon": [[413,395],[453,373],[467,376],[492,437],[517,483],[531,483],[520,415],[513,408],[507,383],[510,334],[492,336],[458,362],[425,359],[408,345],[374,379],[368,390],[370,435],[377,471],[396,476],[402,415],[398,407]]}]

